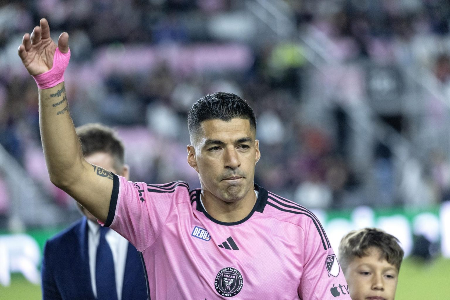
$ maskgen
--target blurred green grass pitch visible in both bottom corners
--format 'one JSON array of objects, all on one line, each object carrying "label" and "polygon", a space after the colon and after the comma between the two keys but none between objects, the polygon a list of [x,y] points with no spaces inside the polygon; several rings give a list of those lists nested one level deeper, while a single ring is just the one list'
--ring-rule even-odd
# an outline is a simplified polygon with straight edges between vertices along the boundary
[{"label": "blurred green grass pitch visible in both bottom corners", "polygon": [[[405,260],[401,266],[396,300],[449,300],[450,260],[442,258],[431,264]],[[0,285],[0,300],[41,300],[40,286],[14,274],[11,285]]]}]

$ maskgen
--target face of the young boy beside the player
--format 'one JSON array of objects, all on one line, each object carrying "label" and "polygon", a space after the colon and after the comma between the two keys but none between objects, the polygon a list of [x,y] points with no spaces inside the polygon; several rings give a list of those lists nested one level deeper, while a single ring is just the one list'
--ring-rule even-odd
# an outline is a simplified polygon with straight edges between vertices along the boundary
[{"label": "face of the young boy beside the player", "polygon": [[396,266],[381,257],[376,247],[355,257],[345,272],[352,300],[393,300],[398,282]]}]

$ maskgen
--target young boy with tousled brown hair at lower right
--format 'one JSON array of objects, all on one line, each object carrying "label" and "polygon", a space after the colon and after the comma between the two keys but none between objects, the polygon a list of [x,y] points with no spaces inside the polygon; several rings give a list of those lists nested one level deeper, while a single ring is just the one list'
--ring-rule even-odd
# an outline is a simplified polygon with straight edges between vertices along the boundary
[{"label": "young boy with tousled brown hair at lower right", "polygon": [[352,300],[394,300],[403,259],[398,239],[377,228],[347,233],[339,262]]}]

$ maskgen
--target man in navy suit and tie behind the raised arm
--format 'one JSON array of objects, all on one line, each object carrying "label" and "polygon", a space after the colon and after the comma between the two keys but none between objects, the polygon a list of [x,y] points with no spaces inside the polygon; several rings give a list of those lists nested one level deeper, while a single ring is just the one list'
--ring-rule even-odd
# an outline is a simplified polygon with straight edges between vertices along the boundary
[{"label": "man in navy suit and tie behind the raised arm", "polygon": [[[78,127],[86,161],[128,179],[124,147],[99,124]],[[50,238],[42,261],[43,300],[146,300],[140,253],[125,238],[79,206],[83,218]]]}]

